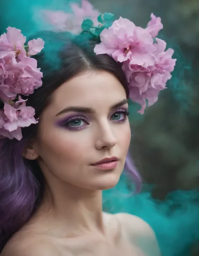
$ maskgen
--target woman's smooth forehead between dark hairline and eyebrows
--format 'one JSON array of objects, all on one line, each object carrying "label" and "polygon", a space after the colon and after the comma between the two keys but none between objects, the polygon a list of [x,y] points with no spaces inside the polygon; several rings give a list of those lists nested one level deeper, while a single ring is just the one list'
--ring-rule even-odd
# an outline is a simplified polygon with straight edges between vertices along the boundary
[{"label": "woman's smooth forehead between dark hairline and eyebrows", "polygon": [[61,111],[68,106],[92,106],[97,108],[126,98],[123,85],[105,71],[86,71],[62,84],[52,95],[50,108]]}]

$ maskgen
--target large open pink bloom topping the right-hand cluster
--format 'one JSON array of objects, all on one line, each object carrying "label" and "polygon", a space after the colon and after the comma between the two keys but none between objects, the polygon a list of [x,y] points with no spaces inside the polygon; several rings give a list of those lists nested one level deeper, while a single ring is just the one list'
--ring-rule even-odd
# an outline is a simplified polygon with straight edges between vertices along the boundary
[{"label": "large open pink bloom topping the right-hand cluster", "polygon": [[96,54],[107,53],[115,61],[129,60],[131,64],[143,67],[154,64],[152,36],[126,18],[120,17],[109,29],[104,29],[100,39],[101,43],[94,48]]}]

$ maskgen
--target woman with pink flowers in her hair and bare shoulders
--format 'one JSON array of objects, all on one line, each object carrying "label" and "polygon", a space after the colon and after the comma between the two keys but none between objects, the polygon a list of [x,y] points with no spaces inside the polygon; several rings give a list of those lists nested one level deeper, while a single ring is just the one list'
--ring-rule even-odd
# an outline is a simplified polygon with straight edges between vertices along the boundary
[{"label": "woman with pink flowers in her hair and bare shoulders", "polygon": [[[175,65],[172,54],[166,58],[165,49],[153,42],[157,26],[160,30],[155,16],[146,30],[136,27],[137,35],[145,33],[142,53],[130,43],[110,53],[103,36],[125,23],[135,29],[120,18],[100,34],[98,45],[86,40],[88,31],[70,38],[43,32],[44,50],[41,39],[24,47],[21,31],[13,28],[0,38],[1,256],[160,255],[154,232],[143,220],[102,212],[102,190],[117,184],[126,162],[128,98],[143,112],[145,99],[154,103],[164,89],[160,75],[164,82],[170,77],[163,74],[163,62],[173,61],[170,70]],[[36,62],[43,78],[30,58],[41,50]],[[165,59],[158,59],[160,52]],[[145,91],[137,95],[135,83],[145,73],[154,81],[158,74],[159,87],[152,88],[150,81],[146,87],[145,81]],[[127,164],[139,187],[132,170]]]}]

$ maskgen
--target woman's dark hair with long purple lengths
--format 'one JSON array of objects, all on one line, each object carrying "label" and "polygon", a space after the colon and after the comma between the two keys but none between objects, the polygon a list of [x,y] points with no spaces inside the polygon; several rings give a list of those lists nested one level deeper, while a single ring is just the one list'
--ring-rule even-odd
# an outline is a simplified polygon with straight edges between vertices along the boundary
[{"label": "woman's dark hair with long purple lengths", "polygon": [[[46,40],[45,40],[46,37]],[[66,33],[43,32],[45,49],[36,56],[44,78],[43,85],[29,95],[27,106],[35,109],[38,118],[50,103],[50,96],[61,84],[81,71],[104,70],[113,74],[123,85],[128,96],[126,77],[120,63],[108,55],[96,55],[94,43],[83,37],[66,38]],[[0,251],[10,237],[17,232],[41,202],[44,176],[37,160],[22,157],[27,141],[37,134],[38,125],[22,129],[23,139],[0,140]],[[127,163],[127,169],[132,170]],[[132,174],[139,180],[135,170]]]}]

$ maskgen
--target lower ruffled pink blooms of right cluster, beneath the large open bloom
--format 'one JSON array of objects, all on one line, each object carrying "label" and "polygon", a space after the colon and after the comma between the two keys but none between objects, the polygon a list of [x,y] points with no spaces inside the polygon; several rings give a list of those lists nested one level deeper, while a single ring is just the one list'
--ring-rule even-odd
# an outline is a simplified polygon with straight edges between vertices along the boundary
[{"label": "lower ruffled pink blooms of right cluster, beneath the large open bloom", "polygon": [[154,51],[155,63],[148,68],[138,65],[131,65],[128,62],[123,64],[123,70],[126,73],[129,82],[130,98],[141,105],[141,114],[148,106],[157,102],[158,94],[166,88],[166,83],[171,78],[171,72],[174,69],[176,59],[172,58],[173,49],[165,51],[166,43],[163,40],[156,39],[156,50]]}]

